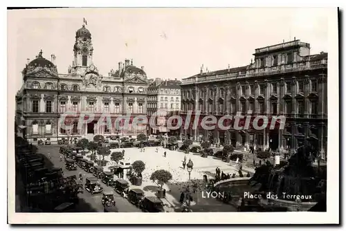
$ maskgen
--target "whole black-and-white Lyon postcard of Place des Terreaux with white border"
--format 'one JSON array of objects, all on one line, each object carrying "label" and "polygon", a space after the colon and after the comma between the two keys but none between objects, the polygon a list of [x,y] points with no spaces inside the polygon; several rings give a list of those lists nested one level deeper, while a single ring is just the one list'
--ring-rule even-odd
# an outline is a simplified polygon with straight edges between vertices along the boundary
[{"label": "whole black-and-white Lyon postcard of Place des Terreaux with white border", "polygon": [[9,223],[338,223],[338,75],[338,8],[8,10]]}]

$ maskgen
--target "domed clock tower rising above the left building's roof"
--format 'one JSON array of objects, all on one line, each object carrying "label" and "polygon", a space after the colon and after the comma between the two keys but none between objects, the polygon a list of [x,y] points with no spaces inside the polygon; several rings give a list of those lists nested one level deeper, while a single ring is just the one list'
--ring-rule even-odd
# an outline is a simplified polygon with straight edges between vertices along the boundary
[{"label": "domed clock tower rising above the left building's roof", "polygon": [[75,45],[73,46],[72,73],[82,74],[86,68],[93,64],[93,44],[91,43],[91,33],[82,28],[75,33]]}]

